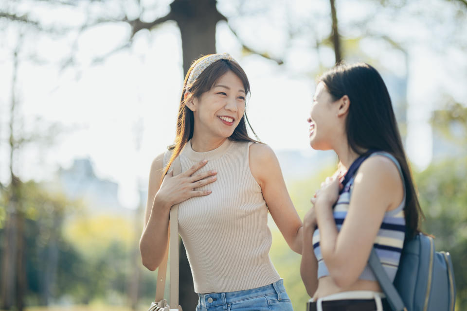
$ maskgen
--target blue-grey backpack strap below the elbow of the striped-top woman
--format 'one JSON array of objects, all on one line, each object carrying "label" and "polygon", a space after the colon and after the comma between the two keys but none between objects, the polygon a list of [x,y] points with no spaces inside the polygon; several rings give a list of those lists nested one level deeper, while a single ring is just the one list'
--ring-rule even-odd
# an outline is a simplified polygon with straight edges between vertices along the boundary
[{"label": "blue-grey backpack strap below the elbow of the striped-top woman", "polygon": [[386,271],[384,271],[384,268],[381,265],[381,261],[379,261],[379,257],[374,247],[371,250],[370,258],[368,259],[368,265],[375,274],[384,294],[386,294],[386,298],[388,299],[391,309],[393,311],[407,311],[407,309],[404,307],[402,298],[394,287],[393,282],[391,282]]}]

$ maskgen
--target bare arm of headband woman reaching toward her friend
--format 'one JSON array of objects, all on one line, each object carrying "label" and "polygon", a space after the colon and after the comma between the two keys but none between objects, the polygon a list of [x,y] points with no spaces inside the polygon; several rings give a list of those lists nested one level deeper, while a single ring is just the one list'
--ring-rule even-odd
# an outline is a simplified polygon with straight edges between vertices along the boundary
[{"label": "bare arm of headband woman reaching toward her friend", "polygon": [[290,248],[301,254],[303,224],[288,195],[277,157],[268,145],[250,146],[250,169],[261,186],[272,219]]}]

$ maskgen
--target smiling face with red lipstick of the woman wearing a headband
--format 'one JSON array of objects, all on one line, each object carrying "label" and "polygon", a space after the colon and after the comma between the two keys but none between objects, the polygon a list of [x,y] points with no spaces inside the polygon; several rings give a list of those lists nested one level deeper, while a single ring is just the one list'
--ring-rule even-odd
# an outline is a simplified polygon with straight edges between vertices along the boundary
[{"label": "smiling face with red lipstick of the woman wearing a headband", "polygon": [[231,70],[209,90],[187,103],[194,115],[194,136],[228,138],[245,112],[245,87]]}]

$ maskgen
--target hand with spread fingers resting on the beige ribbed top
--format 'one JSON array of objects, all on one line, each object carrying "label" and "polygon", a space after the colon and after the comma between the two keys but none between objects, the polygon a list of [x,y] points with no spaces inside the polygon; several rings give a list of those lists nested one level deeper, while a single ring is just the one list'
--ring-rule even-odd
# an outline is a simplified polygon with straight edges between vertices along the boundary
[{"label": "hand with spread fingers resting on the beige ribbed top", "polygon": [[199,187],[216,181],[217,172],[215,170],[197,173],[206,163],[207,160],[200,161],[186,172],[176,176],[173,176],[173,171],[170,170],[162,180],[161,187],[154,198],[153,206],[170,208],[192,197],[210,194],[211,190],[197,190]]}]

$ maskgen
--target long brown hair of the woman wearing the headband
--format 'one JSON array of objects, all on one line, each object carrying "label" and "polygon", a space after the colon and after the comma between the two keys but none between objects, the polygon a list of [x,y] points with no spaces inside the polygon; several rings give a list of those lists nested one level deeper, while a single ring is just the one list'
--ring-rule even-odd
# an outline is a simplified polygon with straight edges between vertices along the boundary
[{"label": "long brown hair of the woman wearing the headband", "polygon": [[[193,137],[193,128],[194,128],[193,111],[191,111],[185,105],[185,102],[190,101],[193,96],[196,98],[200,98],[204,92],[209,91],[214,86],[216,81],[222,75],[227,73],[229,70],[234,72],[234,74],[237,75],[238,78],[240,78],[240,80],[242,80],[243,87],[245,88],[245,94],[248,95],[250,93],[250,82],[248,81],[248,77],[245,71],[243,71],[240,65],[228,59],[220,59],[212,63],[211,65],[209,65],[206,69],[203,70],[203,72],[201,72],[199,77],[194,81],[193,85],[188,89],[190,94],[188,94],[185,99],[185,92],[187,91],[186,84],[187,84],[187,80],[188,80],[188,77],[190,76],[191,71],[200,61],[202,61],[204,58],[208,56],[210,55],[202,56],[198,58],[196,61],[194,61],[193,64],[190,66],[190,69],[188,69],[188,72],[186,73],[185,81],[183,83],[183,89],[181,91],[179,114],[177,117],[177,131],[176,131],[176,137],[175,137],[175,144],[169,147],[169,149],[172,149],[172,156],[162,176],[165,176],[172,162],[175,160],[177,156],[180,155],[180,152],[185,146],[185,144]],[[251,129],[251,132],[253,133],[253,135],[256,137],[257,140],[254,140],[248,136],[246,123],[248,123],[248,126]],[[259,142],[258,136],[253,131],[250,121],[248,121],[246,110],[243,114],[242,119],[240,120],[237,127],[235,128],[234,133],[228,139],[237,140],[237,141]]]}]

